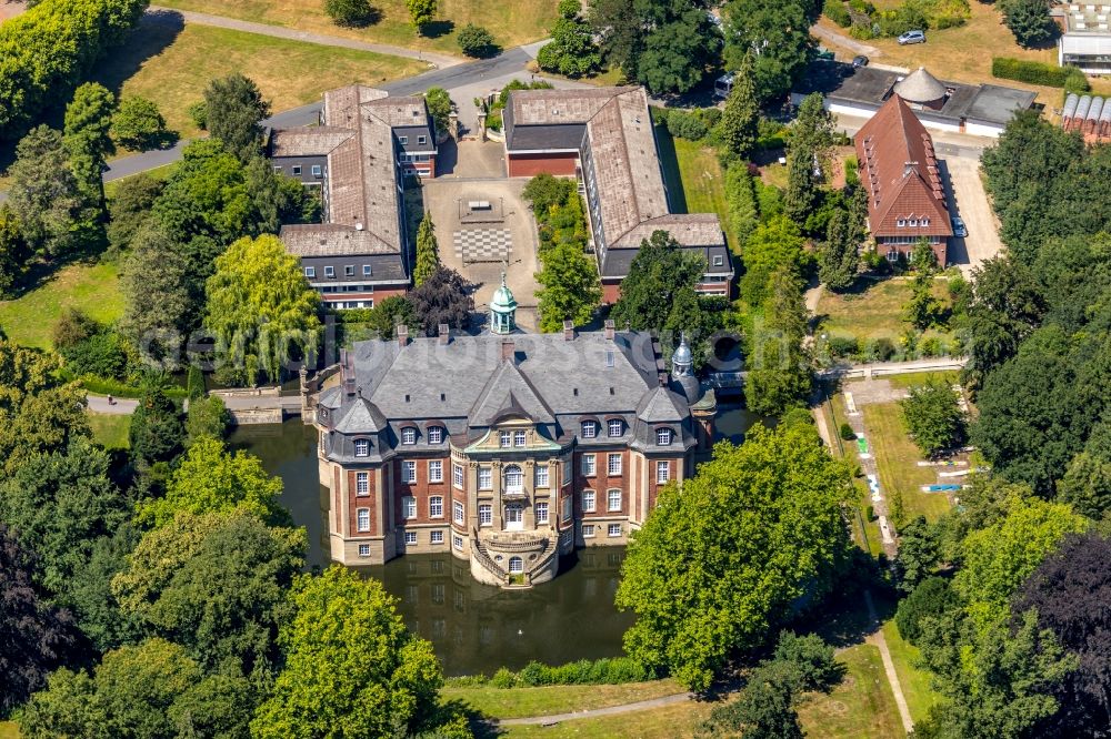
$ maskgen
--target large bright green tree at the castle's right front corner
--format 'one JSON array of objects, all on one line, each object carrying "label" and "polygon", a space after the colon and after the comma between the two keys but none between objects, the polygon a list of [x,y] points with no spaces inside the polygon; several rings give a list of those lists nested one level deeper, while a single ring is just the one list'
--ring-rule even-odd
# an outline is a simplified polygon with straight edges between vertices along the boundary
[{"label": "large bright green tree at the castle's right front corner", "polygon": [[807,594],[831,587],[848,540],[849,469],[809,425],[754,426],[720,443],[682,488],[670,484],[633,535],[617,604],[632,610],[625,649],[704,689],[735,652],[768,638]]}]

